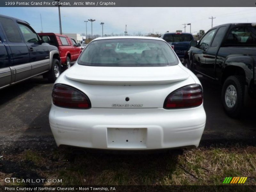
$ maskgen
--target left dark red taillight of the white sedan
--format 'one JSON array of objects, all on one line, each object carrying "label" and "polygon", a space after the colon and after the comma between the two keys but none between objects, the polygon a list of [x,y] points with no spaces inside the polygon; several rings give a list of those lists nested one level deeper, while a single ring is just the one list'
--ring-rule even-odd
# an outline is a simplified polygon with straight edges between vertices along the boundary
[{"label": "left dark red taillight of the white sedan", "polygon": [[54,105],[64,108],[91,108],[91,102],[83,92],[64,84],[53,86],[52,102]]}]

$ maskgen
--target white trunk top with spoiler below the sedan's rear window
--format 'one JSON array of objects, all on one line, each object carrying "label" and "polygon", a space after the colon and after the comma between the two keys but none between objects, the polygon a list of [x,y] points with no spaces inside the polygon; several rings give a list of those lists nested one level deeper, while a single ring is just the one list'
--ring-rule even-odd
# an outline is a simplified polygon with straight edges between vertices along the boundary
[{"label": "white trunk top with spoiler below the sedan's rear window", "polygon": [[186,80],[189,74],[179,65],[167,67],[95,67],[76,65],[65,75],[84,84],[157,85]]}]

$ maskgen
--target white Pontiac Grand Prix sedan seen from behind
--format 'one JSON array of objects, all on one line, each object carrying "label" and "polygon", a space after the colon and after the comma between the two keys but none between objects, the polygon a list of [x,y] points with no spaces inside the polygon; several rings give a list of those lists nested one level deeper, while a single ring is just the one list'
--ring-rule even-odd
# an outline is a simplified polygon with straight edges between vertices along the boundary
[{"label": "white Pontiac Grand Prix sedan seen from behind", "polygon": [[197,147],[203,90],[155,37],[94,39],[56,80],[50,126],[58,146],[116,150]]}]

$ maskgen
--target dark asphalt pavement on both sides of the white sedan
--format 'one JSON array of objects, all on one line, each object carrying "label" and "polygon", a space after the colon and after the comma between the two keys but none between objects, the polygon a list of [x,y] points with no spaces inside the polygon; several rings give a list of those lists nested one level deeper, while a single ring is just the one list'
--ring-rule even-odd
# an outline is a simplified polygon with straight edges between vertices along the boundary
[{"label": "dark asphalt pavement on both sides of the white sedan", "polygon": [[[222,109],[219,85],[199,77],[204,88],[206,126],[202,145],[233,141],[249,142],[255,145],[255,108],[243,111],[241,118],[232,119]],[[51,108],[52,85],[41,76],[0,90],[1,129],[0,140],[9,143],[16,140],[51,141],[54,143],[49,126],[48,114]],[[186,118],[186,117],[184,117]],[[1,151],[1,144],[0,144]]]}]

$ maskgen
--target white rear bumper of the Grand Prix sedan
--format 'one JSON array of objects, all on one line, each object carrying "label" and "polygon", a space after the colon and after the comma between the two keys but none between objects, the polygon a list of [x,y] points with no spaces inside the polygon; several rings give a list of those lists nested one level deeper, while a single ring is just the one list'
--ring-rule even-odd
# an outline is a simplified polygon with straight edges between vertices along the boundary
[{"label": "white rear bumper of the Grand Prix sedan", "polygon": [[203,105],[196,108],[66,109],[52,105],[50,126],[58,146],[148,150],[198,147],[205,126]]}]

